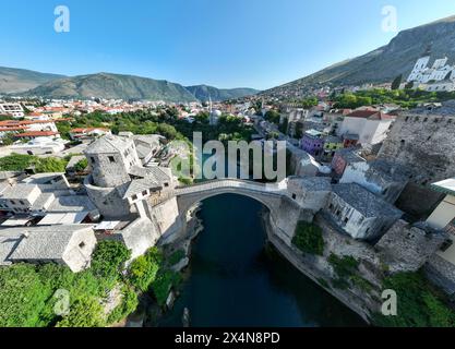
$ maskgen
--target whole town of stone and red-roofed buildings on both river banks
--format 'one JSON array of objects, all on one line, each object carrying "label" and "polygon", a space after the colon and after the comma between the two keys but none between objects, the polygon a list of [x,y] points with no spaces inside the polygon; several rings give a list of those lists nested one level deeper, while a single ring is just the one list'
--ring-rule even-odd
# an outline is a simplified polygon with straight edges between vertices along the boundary
[{"label": "whole town of stone and red-roofed buildings on both river banks", "polygon": [[[2,157],[68,160],[59,172],[39,172],[33,165],[0,172],[2,266],[52,262],[80,273],[91,266],[100,241],[122,242],[133,261],[155,245],[181,239],[188,221],[181,222],[178,193],[187,182],[172,173],[170,164],[185,155],[169,147],[169,140],[113,134],[109,124],[74,127],[65,136],[59,131],[62,122],[72,124],[93,112],[121,118],[172,108],[188,124],[205,113],[216,128],[230,116],[253,129],[249,141],[286,142],[289,177],[279,184],[280,194],[304,221],[322,227],[326,243],[342,241],[332,254],[349,245],[360,263],[370,261],[376,272],[362,274],[369,284],[381,282],[376,274],[384,265],[392,275],[422,269],[447,297],[455,294],[453,100],[411,110],[397,105],[337,109],[328,99],[301,108],[263,97],[180,105],[93,99],[37,106],[17,99],[0,107]],[[290,228],[296,224],[287,222],[271,238],[287,249],[284,254],[294,255],[289,258],[301,253],[295,245],[297,228]],[[323,278],[331,269],[315,268],[306,274]],[[370,299],[351,287],[350,296],[340,291],[335,297]],[[369,302],[350,304],[368,320],[376,306]]]}]

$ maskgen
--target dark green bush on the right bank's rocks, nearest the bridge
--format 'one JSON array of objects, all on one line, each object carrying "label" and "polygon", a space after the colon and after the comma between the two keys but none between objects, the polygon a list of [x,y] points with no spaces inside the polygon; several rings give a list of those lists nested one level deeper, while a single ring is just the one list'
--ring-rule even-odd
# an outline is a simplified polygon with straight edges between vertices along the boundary
[{"label": "dark green bush on the right bank's rocks, nearest the bridge", "polygon": [[323,255],[324,253],[322,229],[314,224],[299,221],[292,243],[304,253],[315,255]]}]

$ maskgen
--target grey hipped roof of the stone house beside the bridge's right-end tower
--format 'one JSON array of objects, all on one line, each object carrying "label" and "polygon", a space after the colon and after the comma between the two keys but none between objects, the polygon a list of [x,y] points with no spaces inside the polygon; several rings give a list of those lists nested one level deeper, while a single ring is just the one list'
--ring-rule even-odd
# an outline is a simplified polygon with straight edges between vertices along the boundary
[{"label": "grey hipped roof of the stone house beside the bridge's right-end tower", "polygon": [[332,186],[333,193],[356,208],[364,217],[402,216],[403,213],[357,183]]}]

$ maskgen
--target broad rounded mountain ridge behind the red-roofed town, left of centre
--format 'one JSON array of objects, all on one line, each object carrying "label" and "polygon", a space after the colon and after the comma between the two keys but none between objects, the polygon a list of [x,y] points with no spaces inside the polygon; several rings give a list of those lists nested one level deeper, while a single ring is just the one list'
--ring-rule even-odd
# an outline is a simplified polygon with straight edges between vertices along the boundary
[{"label": "broad rounded mountain ridge behind the red-roofed town, left of centre", "polygon": [[98,73],[67,77],[43,84],[25,95],[47,98],[113,98],[165,101],[194,101],[196,98],[182,85],[164,80],[133,75]]}]

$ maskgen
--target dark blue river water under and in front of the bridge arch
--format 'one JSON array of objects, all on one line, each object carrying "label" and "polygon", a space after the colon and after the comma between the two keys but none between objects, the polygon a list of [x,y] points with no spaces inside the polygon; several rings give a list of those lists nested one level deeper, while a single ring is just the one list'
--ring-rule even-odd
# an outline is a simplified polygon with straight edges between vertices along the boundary
[{"label": "dark blue river water under and in front of the bridge arch", "polygon": [[261,203],[225,194],[203,202],[204,230],[194,242],[190,276],[159,326],[364,326],[348,308],[267,244]]}]

